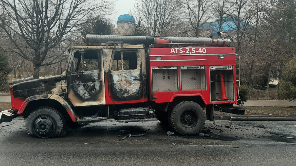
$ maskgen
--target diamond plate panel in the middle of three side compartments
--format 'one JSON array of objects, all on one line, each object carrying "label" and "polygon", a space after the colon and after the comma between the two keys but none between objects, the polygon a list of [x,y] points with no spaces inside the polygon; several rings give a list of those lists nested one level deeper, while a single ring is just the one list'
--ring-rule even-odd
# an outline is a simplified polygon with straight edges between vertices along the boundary
[{"label": "diamond plate panel in the middle of three side compartments", "polygon": [[205,70],[181,70],[181,88],[182,90],[205,89]]}]

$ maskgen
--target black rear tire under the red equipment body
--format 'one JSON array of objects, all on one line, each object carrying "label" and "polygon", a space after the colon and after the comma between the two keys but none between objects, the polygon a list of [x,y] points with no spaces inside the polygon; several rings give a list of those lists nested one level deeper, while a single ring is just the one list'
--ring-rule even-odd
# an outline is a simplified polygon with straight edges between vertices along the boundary
[{"label": "black rear tire under the red equipment body", "polygon": [[169,123],[181,135],[196,135],[205,125],[205,114],[196,102],[183,101],[171,111]]}]

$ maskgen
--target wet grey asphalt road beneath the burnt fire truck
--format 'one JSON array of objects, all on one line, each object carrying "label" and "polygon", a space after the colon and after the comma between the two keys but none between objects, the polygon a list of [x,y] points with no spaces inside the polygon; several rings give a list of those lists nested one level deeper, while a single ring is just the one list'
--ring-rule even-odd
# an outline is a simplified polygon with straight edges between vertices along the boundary
[{"label": "wet grey asphalt road beneath the burnt fire truck", "polygon": [[[296,122],[218,120],[205,127],[222,136],[167,136],[170,128],[158,121],[108,120],[40,139],[15,118],[0,125],[0,165],[295,165],[296,140],[285,137],[296,138]],[[148,134],[119,141],[120,130]]]}]

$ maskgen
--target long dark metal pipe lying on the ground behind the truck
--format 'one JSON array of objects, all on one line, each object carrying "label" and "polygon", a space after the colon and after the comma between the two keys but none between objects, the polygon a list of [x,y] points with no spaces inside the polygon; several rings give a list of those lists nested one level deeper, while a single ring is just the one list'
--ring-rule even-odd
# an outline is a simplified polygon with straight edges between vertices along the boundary
[{"label": "long dark metal pipe lying on the ground behind the truck", "polygon": [[231,121],[296,121],[296,118],[289,117],[235,117],[230,116],[229,120]]}]

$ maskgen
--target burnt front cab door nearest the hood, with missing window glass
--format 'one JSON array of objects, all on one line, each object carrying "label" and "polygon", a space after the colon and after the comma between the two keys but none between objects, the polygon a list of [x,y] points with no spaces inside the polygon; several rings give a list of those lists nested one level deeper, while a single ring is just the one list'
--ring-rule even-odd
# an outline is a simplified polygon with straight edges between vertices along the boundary
[{"label": "burnt front cab door nearest the hood, with missing window glass", "polygon": [[74,106],[106,104],[102,61],[101,50],[73,50],[67,91]]}]

